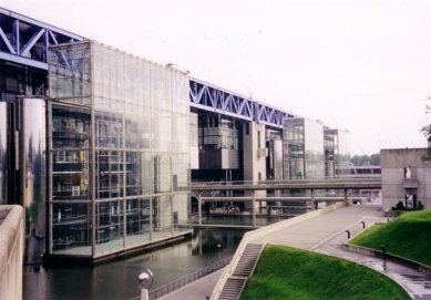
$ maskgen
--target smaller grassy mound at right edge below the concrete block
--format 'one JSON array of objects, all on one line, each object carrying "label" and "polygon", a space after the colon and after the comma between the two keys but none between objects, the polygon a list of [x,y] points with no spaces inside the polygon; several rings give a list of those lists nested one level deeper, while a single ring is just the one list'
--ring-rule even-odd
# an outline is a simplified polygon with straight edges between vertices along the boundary
[{"label": "smaller grassy mound at right edge below the concrete block", "polygon": [[381,250],[431,266],[431,210],[409,211],[374,225],[349,241],[351,245]]}]

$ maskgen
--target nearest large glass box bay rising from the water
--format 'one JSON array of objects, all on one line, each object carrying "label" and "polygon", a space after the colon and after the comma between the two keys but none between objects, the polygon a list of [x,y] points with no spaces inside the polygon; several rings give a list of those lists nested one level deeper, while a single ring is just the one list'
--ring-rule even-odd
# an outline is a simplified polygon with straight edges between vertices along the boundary
[{"label": "nearest large glass box bay rising from the water", "polygon": [[191,229],[185,73],[85,41],[49,50],[49,249],[91,259]]}]

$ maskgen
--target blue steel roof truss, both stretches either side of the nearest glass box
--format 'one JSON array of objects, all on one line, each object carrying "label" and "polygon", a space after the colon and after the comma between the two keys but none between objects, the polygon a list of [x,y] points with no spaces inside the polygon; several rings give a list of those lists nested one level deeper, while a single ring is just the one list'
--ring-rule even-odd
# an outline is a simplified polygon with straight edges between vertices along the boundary
[{"label": "blue steel roof truss, both stretches either side of the nearest glass box", "polygon": [[[0,8],[0,60],[48,70],[49,45],[84,40],[86,38]],[[189,77],[189,104],[279,130],[285,118],[295,117],[289,112],[193,77]]]}]

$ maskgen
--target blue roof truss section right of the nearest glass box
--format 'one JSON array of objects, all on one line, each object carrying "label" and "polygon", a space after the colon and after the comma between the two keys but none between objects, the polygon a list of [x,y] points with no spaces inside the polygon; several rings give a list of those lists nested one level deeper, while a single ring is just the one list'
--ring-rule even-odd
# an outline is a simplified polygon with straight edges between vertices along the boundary
[{"label": "blue roof truss section right of the nearest glass box", "polygon": [[191,106],[234,117],[254,121],[271,127],[283,128],[285,118],[296,115],[234,94],[209,83],[189,79]]}]

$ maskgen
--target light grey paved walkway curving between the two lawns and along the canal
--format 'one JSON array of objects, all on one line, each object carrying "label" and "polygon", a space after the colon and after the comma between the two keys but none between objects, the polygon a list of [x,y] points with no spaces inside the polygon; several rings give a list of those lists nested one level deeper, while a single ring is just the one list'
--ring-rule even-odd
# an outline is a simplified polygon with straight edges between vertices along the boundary
[{"label": "light grey paved walkway curving between the two lawns and along the canal", "polygon": [[[366,205],[353,205],[341,208],[298,225],[280,229],[253,242],[285,245],[356,261],[391,277],[402,285],[414,299],[431,300],[431,276],[391,261],[383,261],[379,258],[350,252],[341,248],[341,245],[348,238],[346,230],[349,230],[351,237],[353,237],[362,230],[362,221],[366,227],[373,223],[388,221],[381,209],[381,204],[368,203]],[[222,271],[217,271],[162,299],[205,300],[213,292],[220,275]]]}]

